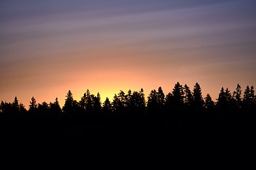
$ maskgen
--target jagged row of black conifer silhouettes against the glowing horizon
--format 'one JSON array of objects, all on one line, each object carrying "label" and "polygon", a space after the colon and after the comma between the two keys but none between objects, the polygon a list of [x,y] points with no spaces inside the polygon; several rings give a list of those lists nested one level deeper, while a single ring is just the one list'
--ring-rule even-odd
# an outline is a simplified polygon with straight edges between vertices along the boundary
[{"label": "jagged row of black conifer silhouettes against the glowing horizon", "polygon": [[113,101],[109,98],[102,103],[100,94],[97,96],[90,94],[87,90],[81,97],[80,101],[73,99],[73,94],[68,91],[65,96],[65,105],[63,108],[55,98],[53,103],[36,103],[36,98],[32,97],[28,111],[22,103],[18,103],[15,97],[12,103],[1,101],[0,113],[1,118],[80,118],[84,115],[171,115],[178,113],[231,113],[238,111],[255,111],[256,96],[254,87],[247,86],[242,95],[240,84],[237,85],[235,91],[230,93],[228,88],[220,89],[217,102],[214,102],[207,94],[205,98],[202,96],[201,86],[196,83],[193,90],[185,84],[182,86],[177,82],[173,91],[164,94],[161,86],[156,91],[152,90],[145,100],[144,91],[131,91],[127,94],[119,91],[114,94]]}]

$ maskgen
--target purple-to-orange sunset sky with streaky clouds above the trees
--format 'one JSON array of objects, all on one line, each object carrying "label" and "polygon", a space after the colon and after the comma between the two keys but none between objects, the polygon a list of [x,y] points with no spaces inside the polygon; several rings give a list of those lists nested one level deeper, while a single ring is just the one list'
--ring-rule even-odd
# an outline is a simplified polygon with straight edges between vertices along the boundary
[{"label": "purple-to-orange sunset sky with streaky clouds above the trees", "polygon": [[0,1],[0,101],[256,86],[255,0]]}]

